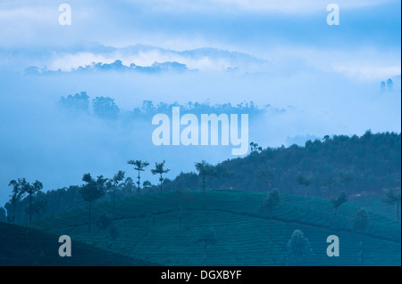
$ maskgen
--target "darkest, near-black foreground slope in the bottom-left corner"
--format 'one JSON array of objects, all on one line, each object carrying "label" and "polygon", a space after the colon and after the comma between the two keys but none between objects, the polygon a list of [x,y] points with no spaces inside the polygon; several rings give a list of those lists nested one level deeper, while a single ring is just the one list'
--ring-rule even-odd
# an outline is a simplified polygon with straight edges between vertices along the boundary
[{"label": "darkest, near-black foreground slope in the bottom-left corner", "polygon": [[156,265],[75,240],[71,256],[61,257],[58,239],[42,231],[0,223],[0,266]]}]

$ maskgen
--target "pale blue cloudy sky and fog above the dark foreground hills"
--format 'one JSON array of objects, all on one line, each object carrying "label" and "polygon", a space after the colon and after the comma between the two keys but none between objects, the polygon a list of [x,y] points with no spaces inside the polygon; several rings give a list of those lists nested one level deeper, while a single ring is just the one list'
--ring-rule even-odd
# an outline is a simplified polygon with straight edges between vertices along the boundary
[{"label": "pale blue cloudy sky and fog above the dark foreground hills", "polygon": [[[327,24],[331,3],[339,5],[339,25]],[[71,25],[59,24],[60,4],[70,4]],[[155,148],[150,122],[132,129],[96,118],[66,120],[56,102],[82,91],[91,100],[110,96],[122,111],[144,100],[255,101],[286,110],[250,121],[250,141],[264,147],[367,129],[399,133],[400,6],[398,0],[0,0],[0,206],[18,177],[39,179],[50,190],[82,183],[85,172],[130,171],[129,158],[151,165],[165,158],[170,178],[194,171],[202,158],[233,158],[220,147]],[[193,71],[71,71],[116,60],[178,61]],[[29,66],[63,72],[29,77]],[[381,93],[389,78],[392,92]]]}]

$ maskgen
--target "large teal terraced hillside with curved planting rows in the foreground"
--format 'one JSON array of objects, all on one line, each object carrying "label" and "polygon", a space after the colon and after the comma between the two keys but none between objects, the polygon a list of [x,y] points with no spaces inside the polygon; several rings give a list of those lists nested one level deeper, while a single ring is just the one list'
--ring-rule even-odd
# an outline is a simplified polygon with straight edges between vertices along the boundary
[{"label": "large teal terraced hillside with curved planting rows in the foreground", "polygon": [[[99,203],[93,207],[94,219],[101,214],[113,217],[118,235],[93,225],[88,232],[88,208],[80,207],[46,216],[35,226],[57,235],[67,234],[97,247],[166,265],[202,265],[203,247],[197,243],[205,228],[214,228],[216,243],[207,249],[207,265],[277,265],[291,233],[300,229],[310,240],[314,256],[306,265],[358,265],[360,236],[350,230],[356,207],[339,208],[336,230],[328,201],[283,195],[281,206],[272,214],[258,210],[264,194],[239,191],[207,191],[181,195],[183,219],[180,226],[180,201],[175,192],[144,195]],[[400,227],[382,215],[370,214],[364,237],[367,265],[400,265]],[[96,221],[96,220],[95,220]],[[340,256],[326,256],[326,239],[339,236]]]}]

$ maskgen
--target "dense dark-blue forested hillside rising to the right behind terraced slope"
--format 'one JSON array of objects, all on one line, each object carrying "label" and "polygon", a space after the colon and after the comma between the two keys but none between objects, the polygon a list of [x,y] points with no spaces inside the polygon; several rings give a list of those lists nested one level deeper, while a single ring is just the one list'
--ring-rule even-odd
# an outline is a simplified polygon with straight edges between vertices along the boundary
[{"label": "dense dark-blue forested hillside rising to the right behind terraced slope", "polygon": [[[322,141],[307,141],[304,147],[261,150],[255,143],[244,158],[225,160],[214,169],[229,175],[216,178],[209,175],[205,187],[243,191],[271,191],[274,188],[289,194],[300,194],[329,200],[347,191],[356,194],[381,196],[383,189],[400,189],[401,134],[372,134],[362,136],[325,136]],[[296,177],[296,180],[295,180]],[[197,174],[180,174],[166,181],[166,189],[196,190],[201,181]]]}]

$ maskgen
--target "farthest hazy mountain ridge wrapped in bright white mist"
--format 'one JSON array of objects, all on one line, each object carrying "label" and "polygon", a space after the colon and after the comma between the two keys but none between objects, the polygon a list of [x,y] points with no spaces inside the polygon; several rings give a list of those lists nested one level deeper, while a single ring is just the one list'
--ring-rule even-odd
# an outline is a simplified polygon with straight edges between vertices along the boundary
[{"label": "farthest hazy mountain ridge wrapped in bright white mist", "polygon": [[[86,53],[93,56],[80,56]],[[63,61],[63,66],[55,64],[55,69],[40,69],[29,67],[25,74],[38,75],[63,71],[140,71],[155,73],[161,71],[188,71],[214,69],[220,71],[256,72],[260,69],[271,66],[272,62],[258,59],[247,53],[232,52],[218,48],[203,47],[193,50],[174,51],[152,45],[130,45],[123,48],[113,46],[96,45],[80,47],[74,51],[58,51],[54,54],[54,61]],[[68,60],[66,60],[68,58]],[[102,59],[93,62],[92,60]],[[79,61],[80,66],[65,66],[71,59]],[[123,63],[124,62],[124,63]],[[50,66],[54,64],[50,63]]]}]

